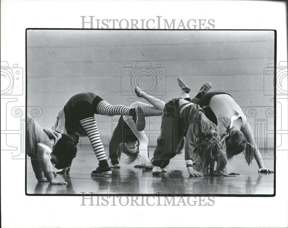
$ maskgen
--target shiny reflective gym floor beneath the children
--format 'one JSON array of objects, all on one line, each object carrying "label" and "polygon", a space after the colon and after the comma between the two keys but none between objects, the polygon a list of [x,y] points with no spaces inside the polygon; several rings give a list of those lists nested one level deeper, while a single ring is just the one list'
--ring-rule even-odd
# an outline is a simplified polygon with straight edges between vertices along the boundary
[{"label": "shiny reflective gym floor beneath the children", "polygon": [[[243,161],[242,161],[243,160]],[[94,177],[90,173],[96,167],[94,154],[78,153],[69,174],[58,174],[56,179],[67,185],[37,183],[32,167],[27,165],[28,194],[273,194],[274,174],[258,174],[257,163],[250,166],[239,156],[233,158],[229,170],[240,176],[190,177],[183,159],[171,160],[173,172],[152,175],[151,170],[134,168],[135,164],[112,169],[111,176]],[[120,161],[121,162],[121,161]],[[273,169],[273,160],[266,159],[266,167]],[[85,163],[85,165],[84,165]],[[84,168],[85,167],[85,168]]]}]

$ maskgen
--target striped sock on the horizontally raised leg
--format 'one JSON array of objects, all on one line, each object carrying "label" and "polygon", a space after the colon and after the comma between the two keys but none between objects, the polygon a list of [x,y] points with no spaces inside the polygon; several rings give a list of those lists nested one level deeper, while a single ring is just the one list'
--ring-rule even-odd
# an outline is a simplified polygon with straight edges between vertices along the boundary
[{"label": "striped sock on the horizontally raised leg", "polygon": [[111,105],[107,101],[100,101],[97,105],[96,111],[101,115],[107,116],[130,116],[131,109],[131,107],[125,105]]}]

